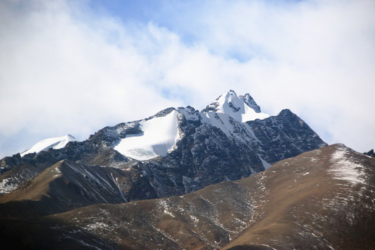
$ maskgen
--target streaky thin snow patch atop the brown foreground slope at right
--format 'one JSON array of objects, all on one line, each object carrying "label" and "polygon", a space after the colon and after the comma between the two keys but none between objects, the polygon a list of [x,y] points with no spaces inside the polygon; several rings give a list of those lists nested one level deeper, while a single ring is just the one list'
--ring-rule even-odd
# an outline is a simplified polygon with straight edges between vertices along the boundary
[{"label": "streaky thin snow patch atop the brown foreground slope at right", "polygon": [[328,169],[328,173],[333,174],[333,178],[356,185],[365,184],[365,169],[362,165],[353,162],[348,158],[347,149],[338,149],[332,154],[333,165]]}]

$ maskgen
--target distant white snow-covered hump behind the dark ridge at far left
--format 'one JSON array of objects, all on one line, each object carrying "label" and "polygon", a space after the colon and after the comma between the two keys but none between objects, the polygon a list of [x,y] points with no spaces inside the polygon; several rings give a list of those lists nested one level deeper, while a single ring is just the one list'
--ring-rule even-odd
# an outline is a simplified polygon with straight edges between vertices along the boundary
[{"label": "distant white snow-covered hump behind the dark ridge at far left", "polygon": [[21,153],[21,156],[26,156],[28,153],[39,153],[41,151],[46,151],[48,149],[63,149],[67,145],[68,142],[74,142],[76,138],[72,135],[64,135],[58,138],[49,138],[45,140],[41,140],[37,144],[35,144],[31,149],[28,149]]}]

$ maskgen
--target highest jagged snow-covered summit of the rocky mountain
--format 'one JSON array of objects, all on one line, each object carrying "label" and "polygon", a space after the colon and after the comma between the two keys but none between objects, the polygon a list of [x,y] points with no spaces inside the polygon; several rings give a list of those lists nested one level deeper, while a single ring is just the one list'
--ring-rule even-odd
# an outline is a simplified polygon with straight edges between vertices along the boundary
[{"label": "highest jagged snow-covered summit of the rocky mountain", "polygon": [[224,94],[202,110],[202,112],[206,113],[210,111],[230,115],[239,122],[248,122],[269,117],[269,115],[260,112],[260,107],[249,93],[238,97],[234,90],[224,92]]}]

